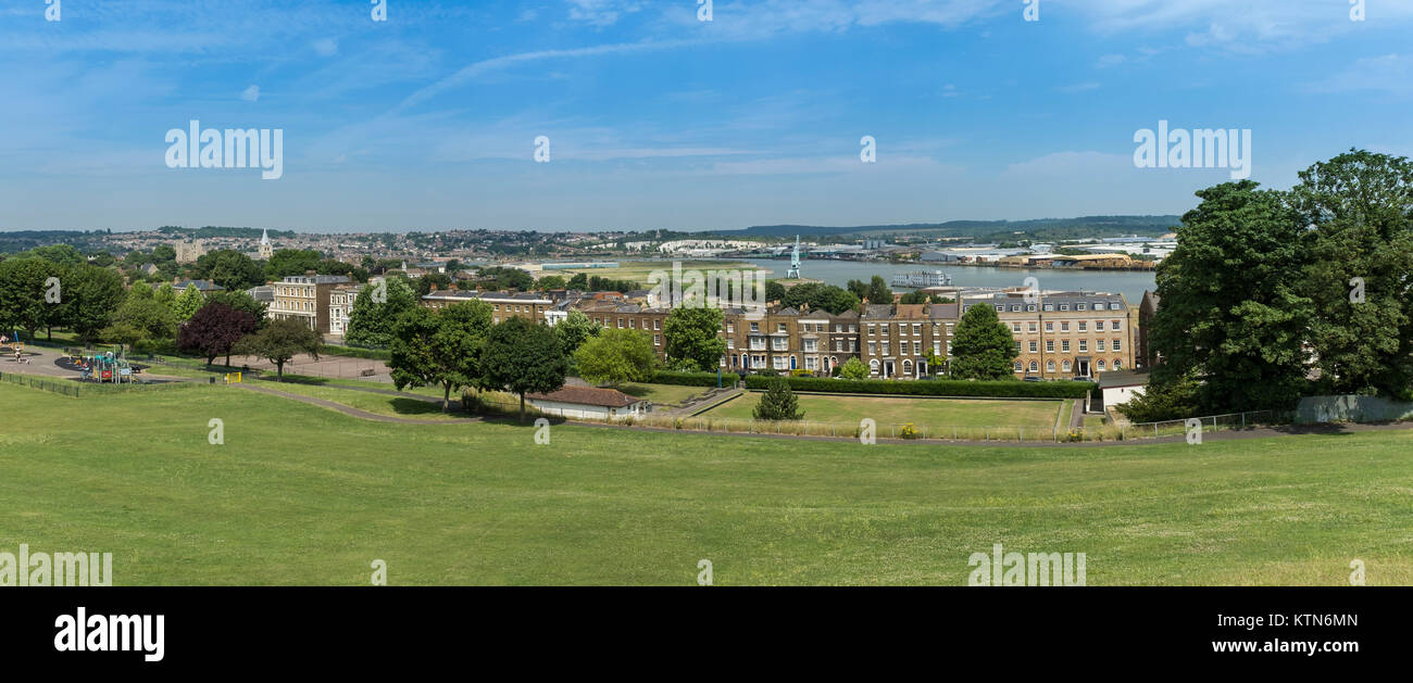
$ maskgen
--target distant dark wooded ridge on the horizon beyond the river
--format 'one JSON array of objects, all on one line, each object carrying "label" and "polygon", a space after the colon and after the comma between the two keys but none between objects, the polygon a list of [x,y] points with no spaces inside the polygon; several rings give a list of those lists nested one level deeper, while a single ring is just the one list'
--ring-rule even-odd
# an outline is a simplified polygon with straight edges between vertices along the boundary
[{"label": "distant dark wooded ridge on the horizon beyond the river", "polygon": [[975,237],[1015,238],[1026,236],[1037,240],[1080,240],[1087,237],[1116,237],[1122,234],[1159,236],[1170,233],[1180,223],[1178,216],[1081,216],[1077,219],[1033,220],[950,220],[945,223],[909,223],[897,226],[752,226],[743,230],[718,230],[722,237]]}]

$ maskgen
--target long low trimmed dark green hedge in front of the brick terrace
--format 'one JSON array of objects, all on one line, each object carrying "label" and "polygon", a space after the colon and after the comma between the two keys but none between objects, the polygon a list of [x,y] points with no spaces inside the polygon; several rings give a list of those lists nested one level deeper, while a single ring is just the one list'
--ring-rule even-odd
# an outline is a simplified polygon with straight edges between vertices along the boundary
[{"label": "long low trimmed dark green hedge in front of the brick terrace", "polygon": [[[780,377],[749,375],[747,389],[764,389]],[[961,381],[961,380],[832,380],[824,377],[784,377],[791,391],[831,394],[896,394],[906,397],[992,397],[992,398],[1084,398],[1094,382],[1053,381]]]}]

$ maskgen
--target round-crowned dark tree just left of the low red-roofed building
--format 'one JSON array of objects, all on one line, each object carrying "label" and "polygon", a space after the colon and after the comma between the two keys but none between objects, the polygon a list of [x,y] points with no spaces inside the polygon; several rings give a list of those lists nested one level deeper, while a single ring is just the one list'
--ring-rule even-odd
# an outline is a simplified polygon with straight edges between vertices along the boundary
[{"label": "round-crowned dark tree just left of the low red-roofed building", "polygon": [[523,318],[492,326],[482,354],[478,382],[486,389],[503,389],[520,397],[520,422],[526,421],[526,394],[548,394],[564,387],[569,371],[564,347],[550,327]]}]

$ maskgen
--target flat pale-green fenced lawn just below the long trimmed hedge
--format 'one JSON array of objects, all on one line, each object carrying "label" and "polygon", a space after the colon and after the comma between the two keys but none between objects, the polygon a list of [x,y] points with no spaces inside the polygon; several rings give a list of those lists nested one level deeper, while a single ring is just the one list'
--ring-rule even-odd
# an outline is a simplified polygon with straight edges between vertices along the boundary
[{"label": "flat pale-green fenced lawn just below the long trimmed hedge", "polygon": [[[747,392],[702,413],[704,418],[750,419],[762,394]],[[964,426],[1024,426],[1048,433],[1060,415],[1061,401],[974,401],[914,397],[821,397],[797,394],[804,419],[856,426],[863,418],[879,425],[934,429]]]}]

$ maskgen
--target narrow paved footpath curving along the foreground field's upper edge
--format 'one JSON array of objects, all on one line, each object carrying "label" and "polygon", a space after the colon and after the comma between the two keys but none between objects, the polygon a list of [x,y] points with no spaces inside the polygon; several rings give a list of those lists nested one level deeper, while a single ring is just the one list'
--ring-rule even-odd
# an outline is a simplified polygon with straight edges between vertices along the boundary
[{"label": "narrow paved footpath curving along the foreground field's upper edge", "polygon": [[[328,401],[322,398],[305,397],[302,394],[290,394],[287,391],[270,389],[266,387],[252,387],[249,384],[239,384],[236,387],[243,387],[246,389],[268,394],[283,398],[291,398],[294,401],[305,402],[309,405],[317,405],[321,408],[329,408],[345,415],[374,421],[374,422],[393,422],[400,425],[466,425],[486,422],[485,418],[449,418],[449,419],[413,419],[413,418],[394,418],[390,415],[377,415],[367,411],[360,411],[357,408],[350,408],[348,405]],[[415,398],[432,404],[439,404],[439,399],[431,397],[421,397],[417,394],[404,394],[400,391],[390,389],[374,389],[365,387],[335,387],[349,391],[366,391],[372,394],[386,394],[401,398]],[[555,423],[565,423],[565,421],[555,419]],[[671,429],[671,428],[650,428],[637,425],[605,425],[602,422],[571,422],[574,426],[593,428],[593,429],[632,429],[639,432],[664,432],[664,433],[695,433],[695,435],[711,435],[711,436],[733,436],[745,439],[784,439],[794,442],[836,442],[836,443],[852,443],[858,442],[853,437],[835,437],[835,436],[797,436],[797,435],[770,435],[770,433],[743,433],[743,432],[698,432],[692,429]],[[1413,430],[1413,422],[1385,422],[1376,425],[1290,425],[1279,428],[1249,428],[1249,429],[1229,429],[1222,432],[1212,432],[1202,435],[1202,442],[1225,442],[1225,440],[1241,440],[1241,439],[1267,439],[1273,436],[1299,436],[1299,435],[1348,435],[1361,432],[1407,432]],[[965,439],[879,439],[879,443],[914,443],[914,445],[952,445],[952,446],[988,446],[988,447],[1044,447],[1044,449],[1092,449],[1092,447],[1108,447],[1108,446],[1146,446],[1150,443],[1183,443],[1187,437],[1178,436],[1164,436],[1160,439],[1130,439],[1122,442],[976,442]]]}]

